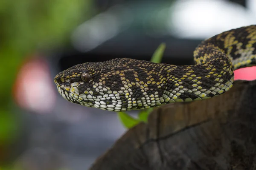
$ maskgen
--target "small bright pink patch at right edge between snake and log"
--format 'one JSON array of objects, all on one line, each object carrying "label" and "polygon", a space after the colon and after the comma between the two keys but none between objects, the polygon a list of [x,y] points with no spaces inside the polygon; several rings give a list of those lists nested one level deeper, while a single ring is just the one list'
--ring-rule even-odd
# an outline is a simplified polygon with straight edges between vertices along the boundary
[{"label": "small bright pink patch at right edge between snake and log", "polygon": [[235,73],[235,80],[255,80],[256,79],[256,67],[240,68]]}]

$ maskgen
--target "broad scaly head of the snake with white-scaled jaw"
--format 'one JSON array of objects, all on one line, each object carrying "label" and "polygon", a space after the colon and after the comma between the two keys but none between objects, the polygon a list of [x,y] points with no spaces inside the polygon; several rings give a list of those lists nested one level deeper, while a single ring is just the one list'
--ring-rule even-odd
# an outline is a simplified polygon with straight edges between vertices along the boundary
[{"label": "broad scaly head of the snake with white-scaled jaw", "polygon": [[144,109],[146,99],[140,98],[148,87],[139,78],[148,75],[136,70],[137,62],[126,58],[87,62],[60,72],[54,81],[64,99],[79,105],[116,112]]}]

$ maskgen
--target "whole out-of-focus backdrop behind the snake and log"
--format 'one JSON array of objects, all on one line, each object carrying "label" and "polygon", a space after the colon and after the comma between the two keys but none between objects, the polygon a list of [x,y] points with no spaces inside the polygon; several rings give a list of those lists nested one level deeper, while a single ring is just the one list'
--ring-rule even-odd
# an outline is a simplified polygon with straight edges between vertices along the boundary
[{"label": "whole out-of-focus backdrop behind the snake and log", "polygon": [[150,60],[161,42],[162,62],[190,65],[202,40],[251,24],[255,0],[1,0],[0,170],[85,170],[125,132],[116,113],[62,98],[58,72]]}]

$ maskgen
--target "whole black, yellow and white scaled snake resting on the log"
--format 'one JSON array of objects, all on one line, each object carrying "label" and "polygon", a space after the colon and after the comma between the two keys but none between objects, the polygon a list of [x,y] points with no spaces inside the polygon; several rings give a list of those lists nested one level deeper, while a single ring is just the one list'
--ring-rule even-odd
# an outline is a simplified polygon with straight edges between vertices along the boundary
[{"label": "whole black, yellow and white scaled snake resting on the log", "polygon": [[231,29],[204,40],[195,65],[170,65],[116,58],[85,62],[54,78],[66,100],[107,111],[124,112],[193,102],[232,88],[234,71],[256,65],[256,25]]}]

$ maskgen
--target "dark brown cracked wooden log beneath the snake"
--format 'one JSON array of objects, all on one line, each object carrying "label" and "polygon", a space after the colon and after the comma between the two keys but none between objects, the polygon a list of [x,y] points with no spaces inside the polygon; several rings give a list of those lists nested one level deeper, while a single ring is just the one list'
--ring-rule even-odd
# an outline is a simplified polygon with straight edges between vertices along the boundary
[{"label": "dark brown cracked wooden log beneath the snake", "polygon": [[163,105],[90,170],[255,170],[256,81],[211,99]]}]

